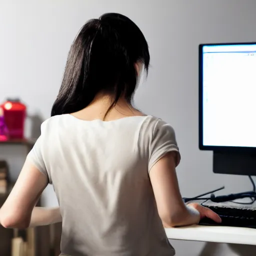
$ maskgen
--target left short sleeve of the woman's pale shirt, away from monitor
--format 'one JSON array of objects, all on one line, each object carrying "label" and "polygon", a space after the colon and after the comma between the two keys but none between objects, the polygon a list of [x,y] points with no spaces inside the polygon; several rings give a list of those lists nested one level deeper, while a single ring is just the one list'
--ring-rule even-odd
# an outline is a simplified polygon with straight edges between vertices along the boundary
[{"label": "left short sleeve of the woman's pale shirt, away from monitor", "polygon": [[[26,159],[29,160],[36,168],[48,177],[46,166],[43,160],[43,124],[41,125],[41,135],[36,140],[33,148],[27,154]],[[48,177],[49,180],[49,177]]]}]

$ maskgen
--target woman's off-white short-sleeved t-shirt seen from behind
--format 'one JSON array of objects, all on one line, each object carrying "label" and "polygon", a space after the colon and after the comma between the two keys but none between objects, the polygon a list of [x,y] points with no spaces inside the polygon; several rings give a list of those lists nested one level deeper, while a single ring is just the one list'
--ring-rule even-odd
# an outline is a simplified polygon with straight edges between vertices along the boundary
[{"label": "woman's off-white short-sleeved t-shirt seen from behind", "polygon": [[27,158],[53,184],[61,255],[174,255],[148,176],[169,151],[178,164],[173,128],[153,116],[85,121],[63,114],[44,121]]}]

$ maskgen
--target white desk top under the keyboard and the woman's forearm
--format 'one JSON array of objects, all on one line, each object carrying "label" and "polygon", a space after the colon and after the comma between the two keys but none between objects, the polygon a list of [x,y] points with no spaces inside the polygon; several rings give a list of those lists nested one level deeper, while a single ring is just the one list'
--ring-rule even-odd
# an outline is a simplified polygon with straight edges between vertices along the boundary
[{"label": "white desk top under the keyboard and the woman's forearm", "polygon": [[165,228],[168,239],[256,245],[256,229],[230,226]]}]

